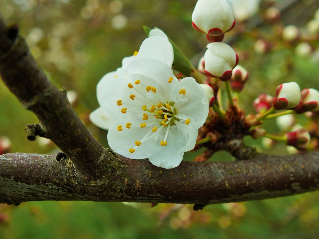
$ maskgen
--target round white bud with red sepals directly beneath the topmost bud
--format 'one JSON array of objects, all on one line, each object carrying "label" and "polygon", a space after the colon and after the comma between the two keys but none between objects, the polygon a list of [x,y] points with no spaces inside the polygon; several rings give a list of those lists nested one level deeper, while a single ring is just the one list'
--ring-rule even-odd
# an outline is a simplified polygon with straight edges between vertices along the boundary
[{"label": "round white bud with red sepals directly beneath the topmost bud", "polygon": [[232,47],[222,42],[209,43],[207,48],[204,54],[206,74],[228,80],[232,76],[232,69],[238,64],[238,55]]}]

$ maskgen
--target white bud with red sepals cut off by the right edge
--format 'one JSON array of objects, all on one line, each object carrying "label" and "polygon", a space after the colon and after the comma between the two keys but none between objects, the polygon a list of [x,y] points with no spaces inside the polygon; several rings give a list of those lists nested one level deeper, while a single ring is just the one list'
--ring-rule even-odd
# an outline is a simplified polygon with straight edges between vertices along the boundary
[{"label": "white bud with red sepals cut off by the right edge", "polygon": [[301,100],[299,105],[295,109],[298,114],[306,111],[318,111],[319,110],[319,91],[315,89],[303,89],[301,91]]}]

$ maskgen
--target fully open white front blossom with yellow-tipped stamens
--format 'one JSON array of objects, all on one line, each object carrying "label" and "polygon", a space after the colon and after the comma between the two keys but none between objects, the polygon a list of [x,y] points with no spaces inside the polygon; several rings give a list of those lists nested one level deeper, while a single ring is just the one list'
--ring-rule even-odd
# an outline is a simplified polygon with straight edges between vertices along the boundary
[{"label": "fully open white front blossom with yellow-tipped stamens", "polygon": [[184,152],[195,147],[198,128],[207,118],[205,91],[192,77],[179,82],[159,60],[136,59],[127,70],[127,76],[108,81],[100,98],[117,120],[108,131],[109,146],[132,159],[177,167]]}]

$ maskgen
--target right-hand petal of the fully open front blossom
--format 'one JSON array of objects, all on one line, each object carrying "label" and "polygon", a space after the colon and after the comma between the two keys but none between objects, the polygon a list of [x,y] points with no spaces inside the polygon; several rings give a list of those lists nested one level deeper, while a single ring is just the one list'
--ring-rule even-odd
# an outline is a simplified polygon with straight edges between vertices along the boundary
[{"label": "right-hand petal of the fully open front blossom", "polygon": [[185,89],[185,95],[175,102],[178,115],[182,115],[201,127],[208,116],[208,99],[204,89],[192,77],[185,77],[179,83],[180,89]]}]

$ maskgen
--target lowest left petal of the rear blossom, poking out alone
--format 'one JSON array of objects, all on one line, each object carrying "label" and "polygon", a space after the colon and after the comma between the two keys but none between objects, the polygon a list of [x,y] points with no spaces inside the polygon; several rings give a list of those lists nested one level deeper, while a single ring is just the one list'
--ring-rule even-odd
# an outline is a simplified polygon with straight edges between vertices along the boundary
[{"label": "lowest left petal of the rear blossom, poking out alone", "polygon": [[90,121],[102,129],[108,130],[115,122],[113,115],[99,107],[90,114]]}]

